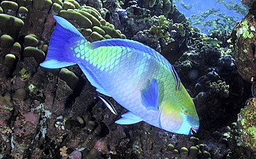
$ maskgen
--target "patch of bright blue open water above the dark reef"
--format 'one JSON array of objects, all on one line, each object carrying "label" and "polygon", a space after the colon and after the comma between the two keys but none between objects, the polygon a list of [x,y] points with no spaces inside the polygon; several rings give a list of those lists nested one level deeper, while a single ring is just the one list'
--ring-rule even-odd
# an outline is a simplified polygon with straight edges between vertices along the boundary
[{"label": "patch of bright blue open water above the dark reef", "polygon": [[[206,34],[212,30],[228,32],[235,26],[236,21],[240,21],[247,14],[248,8],[241,4],[240,0],[222,0],[225,5],[219,1],[174,0],[174,4],[185,17],[190,19],[192,26],[200,28],[201,32]],[[185,8],[183,4],[188,8]],[[212,10],[211,14],[203,14],[209,10]]]}]

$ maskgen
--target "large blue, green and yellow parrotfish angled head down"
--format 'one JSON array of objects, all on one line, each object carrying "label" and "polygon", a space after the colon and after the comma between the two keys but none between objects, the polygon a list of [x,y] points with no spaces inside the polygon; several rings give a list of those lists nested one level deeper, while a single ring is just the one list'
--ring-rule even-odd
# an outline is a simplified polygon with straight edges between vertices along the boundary
[{"label": "large blue, green and yellow parrotfish angled head down", "polygon": [[129,39],[89,42],[62,17],[54,16],[45,68],[77,64],[96,91],[128,110],[117,124],[140,121],[190,135],[199,129],[194,102],[170,64],[156,50]]}]

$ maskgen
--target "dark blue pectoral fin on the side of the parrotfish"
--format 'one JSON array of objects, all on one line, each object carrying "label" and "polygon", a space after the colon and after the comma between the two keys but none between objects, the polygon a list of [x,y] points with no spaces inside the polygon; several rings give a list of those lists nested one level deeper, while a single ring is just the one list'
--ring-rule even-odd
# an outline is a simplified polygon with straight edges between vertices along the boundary
[{"label": "dark blue pectoral fin on the side of the parrotfish", "polygon": [[145,84],[145,87],[141,90],[141,102],[143,106],[148,110],[158,111],[158,83],[156,79],[152,79]]}]

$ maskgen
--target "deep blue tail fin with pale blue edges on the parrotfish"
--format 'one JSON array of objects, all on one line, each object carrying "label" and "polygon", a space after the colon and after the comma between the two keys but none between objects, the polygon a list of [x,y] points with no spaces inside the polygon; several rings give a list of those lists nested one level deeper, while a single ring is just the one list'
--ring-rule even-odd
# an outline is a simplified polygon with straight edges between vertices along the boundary
[{"label": "deep blue tail fin with pale blue edges on the parrotfish", "polygon": [[62,68],[76,64],[73,60],[73,53],[70,48],[75,41],[85,40],[82,34],[66,19],[53,16],[57,22],[55,30],[51,35],[46,60],[40,66],[46,68]]}]

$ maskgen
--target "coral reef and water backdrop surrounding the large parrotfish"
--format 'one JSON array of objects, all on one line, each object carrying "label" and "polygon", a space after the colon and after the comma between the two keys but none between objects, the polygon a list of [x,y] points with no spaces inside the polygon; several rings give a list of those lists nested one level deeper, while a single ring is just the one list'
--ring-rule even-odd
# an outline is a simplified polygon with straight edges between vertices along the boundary
[{"label": "coral reef and water backdrop surrounding the large parrotfish", "polygon": [[[256,2],[205,2],[1,1],[0,158],[256,158]],[[165,56],[199,131],[115,124],[127,110],[109,97],[111,113],[78,66],[39,66],[53,15],[89,41],[133,39]]]}]

